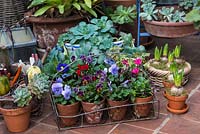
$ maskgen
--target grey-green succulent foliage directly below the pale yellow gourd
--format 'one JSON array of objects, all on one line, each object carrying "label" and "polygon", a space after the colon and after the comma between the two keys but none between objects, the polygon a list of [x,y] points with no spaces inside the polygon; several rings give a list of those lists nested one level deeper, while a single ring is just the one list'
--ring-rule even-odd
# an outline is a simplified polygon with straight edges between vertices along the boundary
[{"label": "grey-green succulent foliage directly below the pale yellow gourd", "polygon": [[49,91],[50,81],[49,77],[43,73],[34,75],[28,84],[28,88],[31,93],[34,94],[38,99],[41,99],[43,95]]}]

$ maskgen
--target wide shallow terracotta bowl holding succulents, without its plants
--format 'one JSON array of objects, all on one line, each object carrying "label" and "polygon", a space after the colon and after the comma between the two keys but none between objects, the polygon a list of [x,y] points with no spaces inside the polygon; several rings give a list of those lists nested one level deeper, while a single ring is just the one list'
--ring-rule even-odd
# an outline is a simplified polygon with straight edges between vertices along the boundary
[{"label": "wide shallow terracotta bowl holding succulents, without its plants", "polygon": [[154,36],[177,38],[192,35],[198,31],[191,22],[143,21],[147,32]]}]

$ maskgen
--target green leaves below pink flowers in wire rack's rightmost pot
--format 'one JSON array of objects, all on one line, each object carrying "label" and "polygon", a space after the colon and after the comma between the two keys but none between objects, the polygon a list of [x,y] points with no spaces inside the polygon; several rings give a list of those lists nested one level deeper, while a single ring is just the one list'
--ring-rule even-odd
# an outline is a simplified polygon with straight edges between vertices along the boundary
[{"label": "green leaves below pink flowers in wire rack's rightmost pot", "polygon": [[130,83],[129,87],[131,88],[131,100],[134,100],[136,97],[146,98],[152,95],[150,81],[143,76],[139,76],[135,80],[133,80],[133,82]]}]

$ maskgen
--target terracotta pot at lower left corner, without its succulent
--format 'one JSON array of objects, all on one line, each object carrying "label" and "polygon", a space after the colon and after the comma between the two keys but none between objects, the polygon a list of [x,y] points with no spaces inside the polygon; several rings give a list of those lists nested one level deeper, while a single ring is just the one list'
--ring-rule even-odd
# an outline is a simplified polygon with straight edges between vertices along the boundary
[{"label": "terracotta pot at lower left corner, without its succulent", "polygon": [[17,109],[0,108],[0,111],[10,132],[24,132],[28,129],[31,113],[30,105]]}]

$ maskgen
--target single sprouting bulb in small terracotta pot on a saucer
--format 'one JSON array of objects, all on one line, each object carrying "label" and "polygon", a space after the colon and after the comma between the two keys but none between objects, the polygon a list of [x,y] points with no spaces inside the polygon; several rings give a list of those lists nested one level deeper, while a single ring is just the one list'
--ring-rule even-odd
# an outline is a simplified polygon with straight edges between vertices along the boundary
[{"label": "single sprouting bulb in small terracotta pot on a saucer", "polygon": [[171,89],[167,89],[165,96],[168,99],[167,109],[175,114],[185,113],[188,110],[188,105],[185,104],[188,98],[187,92],[182,86],[184,71],[178,71],[176,69],[173,72],[174,86]]}]

